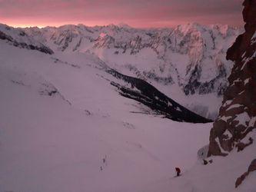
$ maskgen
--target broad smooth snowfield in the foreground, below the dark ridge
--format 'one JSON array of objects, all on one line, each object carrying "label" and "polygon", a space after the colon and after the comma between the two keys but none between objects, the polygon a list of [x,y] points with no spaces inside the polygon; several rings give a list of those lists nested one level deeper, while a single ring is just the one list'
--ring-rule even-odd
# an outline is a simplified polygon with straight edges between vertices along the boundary
[{"label": "broad smooth snowfield in the foreground, below the dark ridge", "polygon": [[204,166],[211,123],[155,115],[121,97],[102,68],[89,53],[0,40],[1,192],[255,191],[255,173],[234,189],[255,145]]}]

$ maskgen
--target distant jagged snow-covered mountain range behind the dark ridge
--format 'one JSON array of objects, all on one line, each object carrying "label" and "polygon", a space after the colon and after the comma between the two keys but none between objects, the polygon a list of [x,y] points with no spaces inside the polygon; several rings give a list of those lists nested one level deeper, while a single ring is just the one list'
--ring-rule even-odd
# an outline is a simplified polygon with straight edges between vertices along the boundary
[{"label": "distant jagged snow-covered mountain range behind the dark ridge", "polygon": [[64,25],[23,30],[53,51],[94,54],[116,71],[148,81],[211,119],[217,117],[232,67],[225,52],[242,31],[197,23],[158,29]]}]

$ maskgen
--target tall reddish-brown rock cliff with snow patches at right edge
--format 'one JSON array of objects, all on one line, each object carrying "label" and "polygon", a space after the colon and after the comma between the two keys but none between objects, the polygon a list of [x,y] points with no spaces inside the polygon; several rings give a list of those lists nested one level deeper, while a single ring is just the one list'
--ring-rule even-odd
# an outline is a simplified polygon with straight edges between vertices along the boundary
[{"label": "tall reddish-brown rock cliff with snow patches at right edge", "polygon": [[254,142],[249,134],[256,128],[256,1],[245,0],[243,5],[245,32],[227,52],[234,67],[211,129],[208,156],[227,155],[234,148],[242,151]]}]

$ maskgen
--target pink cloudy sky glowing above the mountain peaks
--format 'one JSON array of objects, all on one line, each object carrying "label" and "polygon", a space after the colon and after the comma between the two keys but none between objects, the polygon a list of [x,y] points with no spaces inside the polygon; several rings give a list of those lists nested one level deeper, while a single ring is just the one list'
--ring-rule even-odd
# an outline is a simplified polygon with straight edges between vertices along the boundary
[{"label": "pink cloudy sky glowing above the mountain peaks", "polygon": [[243,25],[242,0],[0,0],[0,23],[171,27],[188,22]]}]

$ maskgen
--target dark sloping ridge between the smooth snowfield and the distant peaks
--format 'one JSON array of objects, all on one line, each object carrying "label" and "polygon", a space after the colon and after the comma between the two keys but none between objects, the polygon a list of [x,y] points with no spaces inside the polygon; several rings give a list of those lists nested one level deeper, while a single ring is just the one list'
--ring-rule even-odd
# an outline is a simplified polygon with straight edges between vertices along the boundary
[{"label": "dark sloping ridge between the smooth snowfield and the distant peaks", "polygon": [[173,121],[191,123],[211,122],[211,120],[189,111],[171,98],[168,98],[165,94],[162,94],[158,89],[144,80],[129,77],[113,69],[108,69],[107,72],[112,74],[115,78],[125,81],[125,85],[111,81],[111,84],[118,88],[119,94],[125,98],[131,98],[145,104],[158,114],[165,115],[165,118],[169,118]]}]

